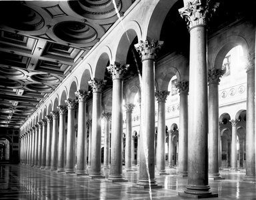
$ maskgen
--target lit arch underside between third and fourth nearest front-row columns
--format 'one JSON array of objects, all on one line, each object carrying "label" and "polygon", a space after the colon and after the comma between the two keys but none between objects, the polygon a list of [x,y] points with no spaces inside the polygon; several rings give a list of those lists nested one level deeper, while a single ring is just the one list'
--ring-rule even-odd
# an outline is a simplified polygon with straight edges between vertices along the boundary
[{"label": "lit arch underside between third and fourth nearest front-row columns", "polygon": [[99,58],[96,59],[97,64],[95,65],[96,67],[93,77],[96,79],[104,79],[107,63],[111,61],[112,53],[109,47],[105,46],[101,49],[101,54],[99,55]]}]

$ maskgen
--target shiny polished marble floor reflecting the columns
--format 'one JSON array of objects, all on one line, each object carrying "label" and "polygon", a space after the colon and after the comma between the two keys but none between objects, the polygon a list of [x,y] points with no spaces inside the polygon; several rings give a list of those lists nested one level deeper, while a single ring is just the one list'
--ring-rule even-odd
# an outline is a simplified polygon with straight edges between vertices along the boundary
[{"label": "shiny polished marble floor reflecting the columns", "polygon": [[[187,178],[175,177],[175,169],[167,169],[170,175],[156,175],[161,189],[135,187],[138,172],[125,172],[128,182],[111,183],[107,179],[89,179],[88,176],[57,174],[25,165],[0,163],[0,200],[2,199],[186,199],[178,192],[185,189]],[[104,171],[108,177],[109,170]],[[255,200],[253,182],[243,181],[245,171],[221,171],[225,180],[209,181],[211,191],[219,198]]]}]

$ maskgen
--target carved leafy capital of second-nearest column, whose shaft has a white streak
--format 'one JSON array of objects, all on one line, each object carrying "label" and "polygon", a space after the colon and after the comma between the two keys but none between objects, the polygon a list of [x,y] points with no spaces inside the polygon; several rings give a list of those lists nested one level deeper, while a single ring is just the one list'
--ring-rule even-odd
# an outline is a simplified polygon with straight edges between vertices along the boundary
[{"label": "carved leafy capital of second-nearest column, whose shaft has a white streak", "polygon": [[141,57],[141,61],[152,59],[155,61],[157,58],[157,53],[161,49],[163,45],[163,41],[157,41],[152,39],[151,42],[147,39],[145,41],[140,41],[136,45],[134,45],[136,51],[139,53]]}]

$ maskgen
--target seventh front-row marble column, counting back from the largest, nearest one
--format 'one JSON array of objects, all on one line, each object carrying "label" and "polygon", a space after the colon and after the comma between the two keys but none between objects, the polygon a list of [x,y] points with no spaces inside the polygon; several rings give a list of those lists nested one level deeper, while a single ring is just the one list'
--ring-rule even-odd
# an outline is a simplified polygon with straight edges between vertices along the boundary
[{"label": "seventh front-row marble column, counting back from the largest, nearest one", "polygon": [[59,105],[57,107],[59,111],[59,139],[58,139],[58,161],[57,161],[57,173],[65,172],[64,164],[64,141],[65,141],[65,113],[67,111],[66,105]]}]

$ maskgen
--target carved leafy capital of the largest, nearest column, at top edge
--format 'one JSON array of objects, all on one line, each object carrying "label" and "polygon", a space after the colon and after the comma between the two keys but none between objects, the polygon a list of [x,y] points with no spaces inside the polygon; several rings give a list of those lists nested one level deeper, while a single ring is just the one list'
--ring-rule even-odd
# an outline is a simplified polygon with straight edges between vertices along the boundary
[{"label": "carved leafy capital of the largest, nearest column, at top edge", "polygon": [[188,1],[187,6],[179,9],[181,17],[185,17],[187,28],[190,30],[193,27],[205,26],[211,15],[219,7],[219,3],[211,3],[211,0]]}]

